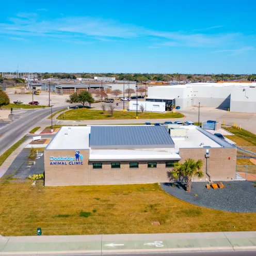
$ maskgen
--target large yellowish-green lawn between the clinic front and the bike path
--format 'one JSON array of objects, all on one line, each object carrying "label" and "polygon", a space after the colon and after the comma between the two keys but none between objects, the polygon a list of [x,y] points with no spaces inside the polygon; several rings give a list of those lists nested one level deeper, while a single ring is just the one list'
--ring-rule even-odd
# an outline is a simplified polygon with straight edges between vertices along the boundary
[{"label": "large yellowish-green lawn between the clinic front and the bike path", "polygon": [[[199,207],[158,184],[42,187],[0,183],[3,236],[255,231],[256,213]],[[8,195],[8,197],[6,196]],[[152,226],[159,221],[160,226]],[[235,226],[235,229],[233,228]]]}]

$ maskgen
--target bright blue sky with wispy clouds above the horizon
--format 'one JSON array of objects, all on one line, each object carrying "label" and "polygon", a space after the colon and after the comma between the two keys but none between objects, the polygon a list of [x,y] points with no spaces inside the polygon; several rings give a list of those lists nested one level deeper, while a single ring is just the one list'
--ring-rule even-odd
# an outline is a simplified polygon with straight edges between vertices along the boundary
[{"label": "bright blue sky with wispy clouds above the horizon", "polygon": [[256,73],[255,1],[5,1],[0,71]]}]

